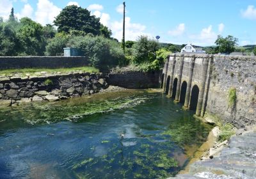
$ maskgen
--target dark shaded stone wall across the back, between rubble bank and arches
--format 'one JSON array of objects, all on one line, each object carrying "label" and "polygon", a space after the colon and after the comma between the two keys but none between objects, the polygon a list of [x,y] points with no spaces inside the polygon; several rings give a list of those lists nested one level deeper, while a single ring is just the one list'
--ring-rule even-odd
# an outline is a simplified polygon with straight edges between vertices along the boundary
[{"label": "dark shaded stone wall across the back, between rubble bank and arches", "polygon": [[109,85],[122,88],[159,88],[159,74],[161,72],[111,72],[107,81]]}]

